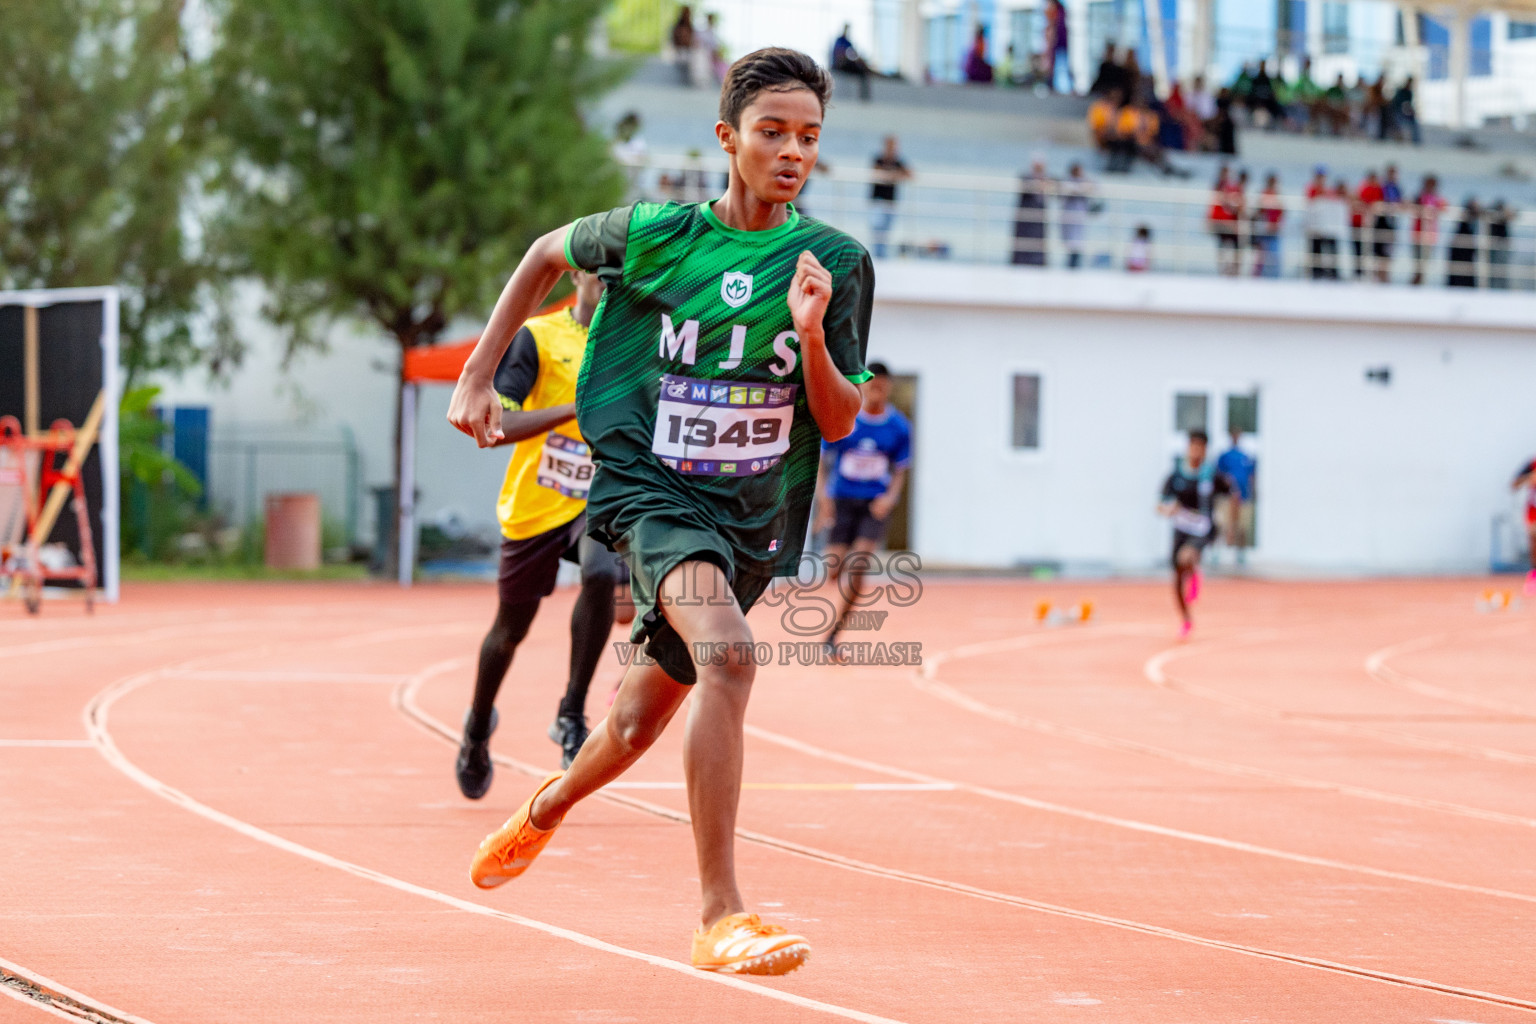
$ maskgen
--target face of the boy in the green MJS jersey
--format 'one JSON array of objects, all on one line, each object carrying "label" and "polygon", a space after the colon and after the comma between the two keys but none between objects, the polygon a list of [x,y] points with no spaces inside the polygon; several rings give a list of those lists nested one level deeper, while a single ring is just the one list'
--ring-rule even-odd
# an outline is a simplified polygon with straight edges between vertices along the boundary
[{"label": "face of the boy in the green MJS jersey", "polygon": [[742,183],[763,203],[790,203],[816,167],[822,103],[809,89],[762,91],[742,111],[740,127],[720,124],[720,147]]}]

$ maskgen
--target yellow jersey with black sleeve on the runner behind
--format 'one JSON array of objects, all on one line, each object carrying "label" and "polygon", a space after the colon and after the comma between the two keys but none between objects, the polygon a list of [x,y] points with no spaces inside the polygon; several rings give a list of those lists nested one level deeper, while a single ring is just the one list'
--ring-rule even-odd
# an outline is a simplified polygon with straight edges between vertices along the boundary
[{"label": "yellow jersey with black sleeve on the runner behind", "polygon": [[[587,352],[587,329],[570,309],[535,316],[511,339],[496,367],[502,408],[536,410],[576,401],[576,375]],[[525,540],[568,524],[587,508],[591,450],[576,421],[519,441],[496,499],[496,519],[508,540]]]}]

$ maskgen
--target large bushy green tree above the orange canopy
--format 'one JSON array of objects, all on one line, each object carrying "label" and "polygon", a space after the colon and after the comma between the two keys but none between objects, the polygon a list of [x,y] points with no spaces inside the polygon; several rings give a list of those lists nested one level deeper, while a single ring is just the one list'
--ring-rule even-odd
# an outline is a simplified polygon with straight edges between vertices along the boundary
[{"label": "large bushy green tree above the orange canopy", "polygon": [[587,49],[602,9],[217,3],[224,244],[266,282],[290,352],[336,316],[375,322],[401,350],[430,344],[453,316],[490,312],[538,235],[621,198],[582,118],[621,74]]}]

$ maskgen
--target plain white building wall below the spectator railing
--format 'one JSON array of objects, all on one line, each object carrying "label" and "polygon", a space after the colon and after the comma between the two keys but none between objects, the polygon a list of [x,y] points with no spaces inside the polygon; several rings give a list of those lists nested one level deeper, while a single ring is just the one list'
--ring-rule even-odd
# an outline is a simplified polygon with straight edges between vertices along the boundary
[{"label": "plain white building wall below the spectator railing", "polygon": [[[932,563],[1144,571],[1178,448],[1174,395],[1260,393],[1272,571],[1488,563],[1536,448],[1536,301],[1485,292],[879,269],[871,355],[919,376],[914,548]],[[1366,370],[1390,367],[1390,385]],[[1041,375],[1041,447],[1011,448],[1011,376]],[[1224,447],[1217,439],[1213,450]]]}]

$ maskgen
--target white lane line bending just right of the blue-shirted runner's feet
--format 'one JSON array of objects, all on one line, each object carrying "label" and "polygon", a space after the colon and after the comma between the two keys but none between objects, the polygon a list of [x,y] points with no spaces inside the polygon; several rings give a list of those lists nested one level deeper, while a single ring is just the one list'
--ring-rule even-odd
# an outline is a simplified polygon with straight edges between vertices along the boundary
[{"label": "white lane line bending just right of the blue-shirted runner's feet", "polygon": [[[1141,743],[1138,740],[1124,740],[1114,735],[1104,735],[1100,732],[1092,732],[1089,729],[1080,729],[1077,726],[1064,725],[1060,722],[1052,722],[1051,718],[1037,718],[1034,715],[1023,715],[1006,708],[997,708],[985,702],[971,697],[960,689],[948,683],[938,682],[938,668],[948,662],[958,660],[962,657],[975,657],[977,654],[988,654],[1001,649],[1020,649],[1031,646],[1046,646],[1055,639],[1071,639],[1083,637],[1089,634],[1074,633],[1074,634],[1025,634],[1021,637],[1012,637],[1008,646],[1001,646],[1003,642],[995,642],[995,646],[986,651],[975,651],[982,645],[972,645],[968,648],[957,648],[955,651],[940,651],[923,659],[923,666],[912,677],[912,686],[919,691],[937,697],[946,703],[951,703],[965,711],[971,711],[994,722],[1001,722],[1020,729],[1029,729],[1031,732],[1038,732],[1041,735],[1049,735],[1061,740],[1072,740],[1083,743],[1086,746],[1097,746],[1109,751],[1120,751],[1124,754],[1143,754],[1146,757],[1155,757],[1166,761],[1174,761],[1177,765],[1186,765],[1189,768],[1198,768],[1203,771],[1218,772],[1223,775],[1236,775],[1244,778],[1263,778],[1266,781],[1283,783],[1287,786],[1296,786],[1299,789],[1318,789],[1326,792],[1338,792],[1347,797],[1358,797],[1361,800],[1375,800],[1379,803],[1392,803],[1404,808],[1416,808],[1419,811],[1436,811],[1442,814],[1455,814],[1467,818],[1478,818],[1482,821],[1495,821],[1498,824],[1513,824],[1518,827],[1536,827],[1536,818],[1527,818],[1518,814],[1505,814],[1502,811],[1487,811],[1484,808],[1471,808],[1461,803],[1452,803],[1447,800],[1430,800],[1427,797],[1410,797],[1407,794],[1385,792],[1381,789],[1370,789],[1367,786],[1352,786],[1349,783],[1336,783],[1324,778],[1310,778],[1307,775],[1293,775],[1290,772],[1272,771],[1267,768],[1256,768],[1252,765],[1238,765],[1235,761],[1221,761],[1209,757],[1200,757],[1195,754],[1184,754],[1183,751],[1174,751],[1163,746],[1155,746],[1152,743]],[[1035,639],[1034,643],[1026,643],[1031,637]]]}]

